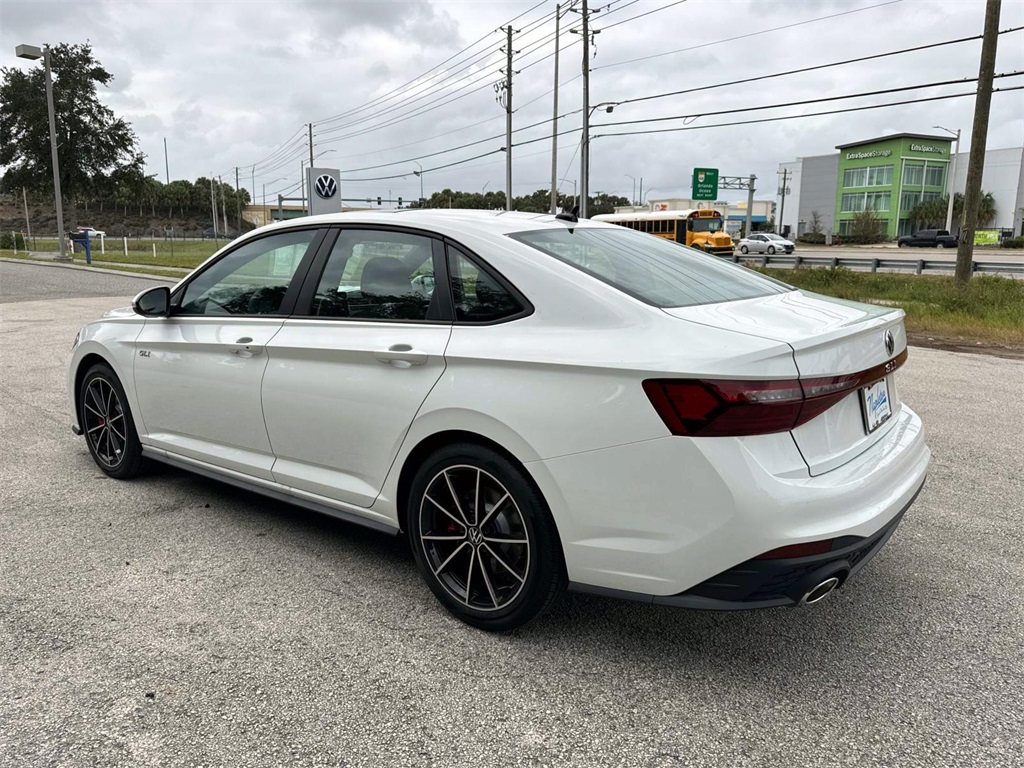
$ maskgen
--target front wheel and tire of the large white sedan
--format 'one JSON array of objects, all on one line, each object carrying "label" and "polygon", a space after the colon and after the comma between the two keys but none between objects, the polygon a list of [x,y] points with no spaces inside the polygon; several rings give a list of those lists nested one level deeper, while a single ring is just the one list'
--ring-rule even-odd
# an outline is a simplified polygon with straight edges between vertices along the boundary
[{"label": "front wheel and tire of the large white sedan", "polygon": [[86,372],[78,403],[82,432],[96,466],[118,480],[140,474],[145,468],[142,443],[124,387],[109,366],[96,364]]}]

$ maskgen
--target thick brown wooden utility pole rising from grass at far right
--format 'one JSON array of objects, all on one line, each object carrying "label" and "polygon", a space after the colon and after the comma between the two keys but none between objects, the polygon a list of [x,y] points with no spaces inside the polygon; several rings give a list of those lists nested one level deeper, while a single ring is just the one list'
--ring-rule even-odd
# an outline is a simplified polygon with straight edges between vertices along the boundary
[{"label": "thick brown wooden utility pole rising from grass at far right", "polygon": [[978,226],[978,204],[981,202],[981,175],[985,167],[985,145],[988,138],[988,112],[992,104],[992,76],[995,73],[995,44],[999,36],[1001,0],[987,0],[985,31],[981,39],[981,67],[978,72],[978,97],[974,104],[974,126],[971,129],[971,158],[967,165],[967,188],[964,190],[964,222],[956,247],[956,284],[966,286],[971,280],[974,259],[974,230]]}]

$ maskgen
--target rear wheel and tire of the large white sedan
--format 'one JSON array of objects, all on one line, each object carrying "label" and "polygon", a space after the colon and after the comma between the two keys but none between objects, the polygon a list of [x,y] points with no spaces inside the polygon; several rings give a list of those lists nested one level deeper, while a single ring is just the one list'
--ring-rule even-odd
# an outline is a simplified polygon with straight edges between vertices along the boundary
[{"label": "rear wheel and tire of the large white sedan", "polygon": [[490,449],[457,443],[431,454],[413,478],[406,530],[431,592],[477,629],[522,627],[565,591],[548,505],[520,466]]}]

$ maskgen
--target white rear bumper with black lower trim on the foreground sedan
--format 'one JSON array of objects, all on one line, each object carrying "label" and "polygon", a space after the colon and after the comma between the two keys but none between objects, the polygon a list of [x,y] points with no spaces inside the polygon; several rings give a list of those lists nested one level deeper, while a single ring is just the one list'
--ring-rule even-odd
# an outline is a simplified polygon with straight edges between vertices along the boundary
[{"label": "white rear bumper with black lower trim on the foreground sedan", "polygon": [[[842,582],[862,567],[920,493],[931,457],[921,420],[903,406],[893,421],[862,455],[814,477],[787,433],[669,437],[527,467],[573,589],[701,608],[792,605],[823,568]],[[835,548],[823,555],[756,560],[826,539]]]}]

